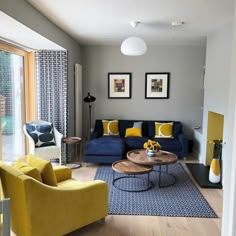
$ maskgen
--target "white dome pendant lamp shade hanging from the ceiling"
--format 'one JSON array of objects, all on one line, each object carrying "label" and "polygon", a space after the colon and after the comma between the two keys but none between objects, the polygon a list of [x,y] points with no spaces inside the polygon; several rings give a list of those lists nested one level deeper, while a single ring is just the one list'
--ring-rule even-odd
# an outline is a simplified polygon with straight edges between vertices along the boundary
[{"label": "white dome pendant lamp shade hanging from the ceiling", "polygon": [[146,53],[147,45],[143,39],[129,37],[121,44],[121,52],[127,56],[141,56]]}]

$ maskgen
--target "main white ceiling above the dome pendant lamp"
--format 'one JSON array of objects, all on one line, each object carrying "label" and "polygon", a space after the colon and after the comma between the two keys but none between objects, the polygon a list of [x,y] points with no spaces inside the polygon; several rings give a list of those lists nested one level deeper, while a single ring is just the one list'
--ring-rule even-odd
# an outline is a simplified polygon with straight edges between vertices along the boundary
[{"label": "main white ceiling above the dome pendant lamp", "polygon": [[[85,45],[119,45],[128,36],[148,44],[204,44],[232,19],[234,0],[28,0]],[[131,20],[141,21],[138,28]],[[184,21],[172,27],[172,21]]]}]

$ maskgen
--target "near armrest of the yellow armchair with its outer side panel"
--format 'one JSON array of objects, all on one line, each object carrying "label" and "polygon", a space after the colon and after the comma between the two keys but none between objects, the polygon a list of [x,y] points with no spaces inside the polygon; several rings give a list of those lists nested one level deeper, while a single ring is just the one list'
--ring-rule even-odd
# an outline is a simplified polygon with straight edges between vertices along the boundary
[{"label": "near armrest of the yellow armchair with its outer side panel", "polygon": [[[59,188],[28,178],[24,185],[31,235],[64,235],[108,214],[108,186],[104,181]],[[49,226],[43,229],[42,225]]]}]

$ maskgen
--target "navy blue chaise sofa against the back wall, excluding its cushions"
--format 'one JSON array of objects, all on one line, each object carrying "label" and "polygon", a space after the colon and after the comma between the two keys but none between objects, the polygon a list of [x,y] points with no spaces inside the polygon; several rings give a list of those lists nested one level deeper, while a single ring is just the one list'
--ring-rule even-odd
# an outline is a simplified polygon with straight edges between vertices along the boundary
[{"label": "navy blue chaise sofa against the back wall, excluding its cushions", "polygon": [[133,149],[143,148],[148,140],[156,140],[160,143],[161,149],[175,153],[178,157],[185,157],[188,154],[188,139],[182,132],[182,123],[179,121],[158,121],[174,122],[174,138],[154,138],[155,121],[141,120],[142,137],[125,137],[127,128],[133,127],[134,122],[140,120],[119,120],[119,136],[103,136],[102,120],[96,120],[94,131],[90,140],[86,143],[83,152],[83,161],[87,163],[113,163],[114,161],[126,158],[126,152]]}]

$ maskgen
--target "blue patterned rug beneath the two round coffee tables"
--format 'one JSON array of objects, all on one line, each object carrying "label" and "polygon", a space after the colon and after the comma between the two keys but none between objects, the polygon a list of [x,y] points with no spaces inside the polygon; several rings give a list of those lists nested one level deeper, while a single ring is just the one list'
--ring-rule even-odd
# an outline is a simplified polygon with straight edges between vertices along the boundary
[{"label": "blue patterned rug beneath the two round coffee tables", "polygon": [[[159,173],[152,171],[150,180],[154,186],[145,192],[124,192],[112,185],[111,166],[99,166],[94,179],[101,179],[109,185],[109,214],[111,215],[150,215],[173,217],[216,218],[217,215],[194,185],[180,163],[169,165],[169,172],[177,178],[175,185],[159,188]],[[116,173],[116,177],[122,174]],[[147,175],[140,175],[145,180]],[[162,184],[172,179],[162,177]],[[121,179],[116,182],[126,189],[143,188],[146,182],[139,178]]]}]

